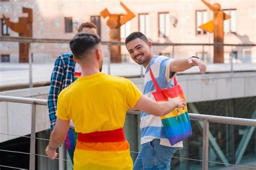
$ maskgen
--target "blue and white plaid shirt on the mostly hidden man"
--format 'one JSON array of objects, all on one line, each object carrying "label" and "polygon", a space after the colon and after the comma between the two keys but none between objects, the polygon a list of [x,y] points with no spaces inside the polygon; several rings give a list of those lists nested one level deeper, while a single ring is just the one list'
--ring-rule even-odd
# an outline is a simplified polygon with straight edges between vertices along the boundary
[{"label": "blue and white plaid shirt on the mostly hidden man", "polygon": [[55,61],[51,74],[50,92],[48,97],[48,110],[51,122],[51,130],[56,123],[57,99],[60,91],[68,87],[74,80],[75,60],[73,53],[63,53]]}]

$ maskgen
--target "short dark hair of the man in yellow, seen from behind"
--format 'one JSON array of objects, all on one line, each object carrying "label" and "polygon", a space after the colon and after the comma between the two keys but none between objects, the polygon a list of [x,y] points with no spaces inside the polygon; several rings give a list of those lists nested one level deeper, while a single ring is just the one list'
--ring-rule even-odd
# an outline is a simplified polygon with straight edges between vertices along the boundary
[{"label": "short dark hair of the man in yellow, seen from behind", "polygon": [[77,59],[82,59],[85,52],[100,43],[100,38],[91,33],[77,33],[69,42],[70,49]]}]

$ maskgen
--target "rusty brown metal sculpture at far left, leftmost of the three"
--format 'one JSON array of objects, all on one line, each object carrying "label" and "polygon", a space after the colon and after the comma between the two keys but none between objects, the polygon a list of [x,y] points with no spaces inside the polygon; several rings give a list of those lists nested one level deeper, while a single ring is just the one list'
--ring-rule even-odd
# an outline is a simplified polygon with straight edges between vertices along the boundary
[{"label": "rusty brown metal sculpture at far left, leftmost of the three", "polygon": [[[10,22],[4,15],[4,21],[10,29],[19,33],[20,37],[32,37],[33,13],[30,8],[22,8],[23,13],[28,13],[28,17],[19,17],[18,23]],[[29,43],[19,43],[19,63],[29,62]]]}]

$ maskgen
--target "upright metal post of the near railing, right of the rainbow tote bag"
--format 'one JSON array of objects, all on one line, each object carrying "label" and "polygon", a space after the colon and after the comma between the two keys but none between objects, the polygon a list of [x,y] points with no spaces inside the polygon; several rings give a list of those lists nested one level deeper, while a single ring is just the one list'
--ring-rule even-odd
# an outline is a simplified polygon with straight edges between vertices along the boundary
[{"label": "upright metal post of the near railing, right of the rainbow tote bag", "polygon": [[202,169],[208,170],[208,151],[209,151],[209,121],[204,119],[203,128],[203,165]]}]

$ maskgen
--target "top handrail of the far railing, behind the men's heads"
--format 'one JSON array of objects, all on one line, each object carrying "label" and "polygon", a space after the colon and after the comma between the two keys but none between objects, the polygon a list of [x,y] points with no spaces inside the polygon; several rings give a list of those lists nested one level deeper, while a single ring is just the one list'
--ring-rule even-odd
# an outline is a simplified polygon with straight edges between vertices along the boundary
[{"label": "top handrail of the far railing, behind the men's heads", "polygon": [[[19,43],[69,43],[70,39],[52,39],[52,38],[31,38],[31,37],[10,37],[0,36],[0,42],[19,42]],[[125,45],[124,42],[101,42],[102,45]],[[256,46],[256,44],[224,44],[224,43],[154,43],[155,46]]]}]

